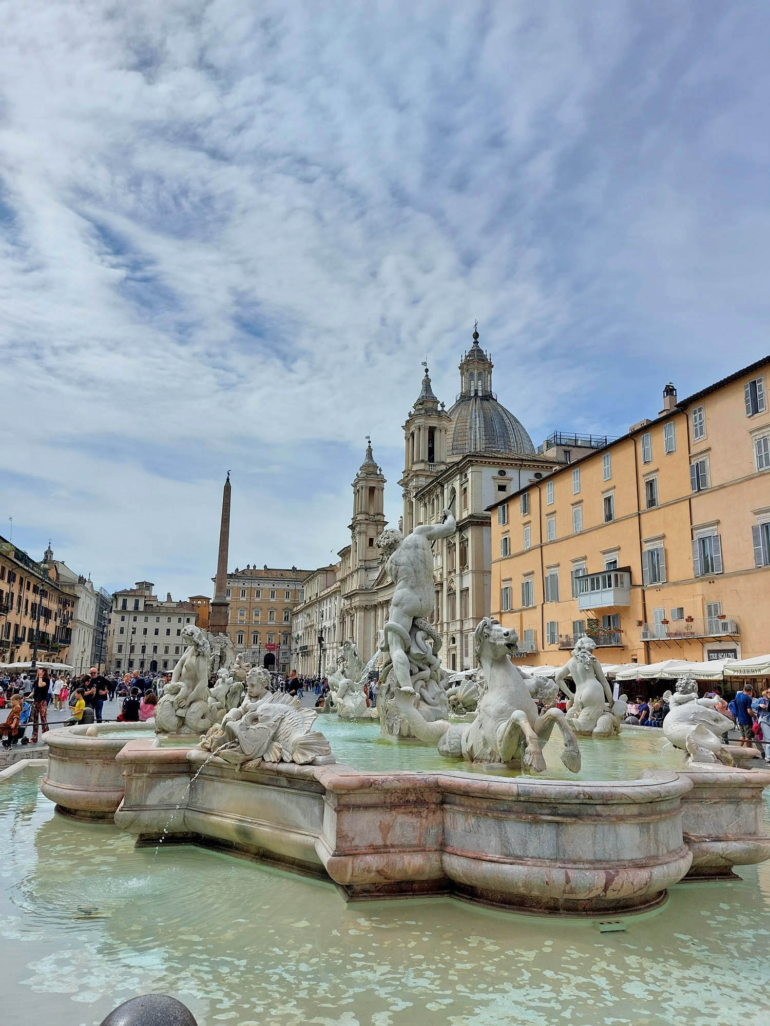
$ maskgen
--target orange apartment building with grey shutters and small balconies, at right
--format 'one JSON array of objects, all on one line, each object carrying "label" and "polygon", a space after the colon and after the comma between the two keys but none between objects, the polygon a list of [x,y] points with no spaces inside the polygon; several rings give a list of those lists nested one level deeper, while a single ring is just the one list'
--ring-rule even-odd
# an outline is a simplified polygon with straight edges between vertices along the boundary
[{"label": "orange apartment building with grey shutters and small balconies, at right", "polygon": [[770,652],[770,356],[489,507],[492,616],[532,665]]}]

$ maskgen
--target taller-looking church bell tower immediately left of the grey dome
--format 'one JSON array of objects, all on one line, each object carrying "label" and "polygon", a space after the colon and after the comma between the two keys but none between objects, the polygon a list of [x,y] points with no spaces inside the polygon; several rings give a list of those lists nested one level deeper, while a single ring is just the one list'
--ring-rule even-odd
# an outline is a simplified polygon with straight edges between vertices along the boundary
[{"label": "taller-looking church bell tower immediately left of the grey dome", "polygon": [[415,494],[447,466],[450,416],[433,395],[427,364],[424,366],[422,389],[403,425],[403,475],[398,483],[403,489],[405,535],[417,522]]}]

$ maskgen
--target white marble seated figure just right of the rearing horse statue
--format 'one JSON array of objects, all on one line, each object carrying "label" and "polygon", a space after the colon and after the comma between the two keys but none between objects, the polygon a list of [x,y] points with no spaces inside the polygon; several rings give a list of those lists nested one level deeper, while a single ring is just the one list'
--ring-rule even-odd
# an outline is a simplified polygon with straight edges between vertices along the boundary
[{"label": "white marble seated figure just right of the rearing horse statue", "polygon": [[[595,642],[587,634],[575,642],[572,656],[555,675],[564,694],[572,700],[567,720],[579,737],[610,738],[620,733],[625,715],[626,696],[613,700],[612,688],[604,670],[593,655]],[[575,690],[570,690],[567,677],[572,677]]]}]

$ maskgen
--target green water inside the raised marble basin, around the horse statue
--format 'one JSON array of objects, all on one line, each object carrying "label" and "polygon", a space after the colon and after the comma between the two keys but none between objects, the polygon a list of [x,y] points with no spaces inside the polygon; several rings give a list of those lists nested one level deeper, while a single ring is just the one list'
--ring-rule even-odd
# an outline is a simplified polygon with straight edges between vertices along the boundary
[{"label": "green water inside the raised marble basin, around the horse statue", "polygon": [[[379,722],[346,723],[338,716],[323,715],[315,721],[315,728],[329,738],[337,761],[356,770],[463,770],[485,773],[480,765],[445,759],[435,748],[416,741],[395,744],[383,739]],[[634,780],[645,770],[679,770],[684,764],[683,753],[666,744],[663,732],[654,727],[624,727],[619,738],[580,738],[579,744],[580,773],[573,774],[560,759],[564,746],[554,729],[543,749],[548,768],[539,776],[551,780]]]}]

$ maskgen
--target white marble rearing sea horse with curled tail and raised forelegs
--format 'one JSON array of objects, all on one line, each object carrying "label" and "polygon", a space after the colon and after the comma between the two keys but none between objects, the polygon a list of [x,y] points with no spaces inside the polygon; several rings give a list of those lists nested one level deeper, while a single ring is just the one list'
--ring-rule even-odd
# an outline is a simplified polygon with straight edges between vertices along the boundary
[{"label": "white marble rearing sea horse with curled tail and raised forelegs", "polygon": [[559,727],[564,739],[562,761],[572,773],[580,768],[577,738],[561,709],[551,707],[538,714],[533,692],[543,681],[528,681],[508,658],[516,650],[516,632],[485,617],[474,632],[476,660],[484,670],[487,688],[478,701],[471,723],[425,720],[403,690],[392,702],[416,737],[432,742],[440,755],[469,762],[503,763],[511,770],[523,766],[534,773],[545,770],[542,746]]}]

